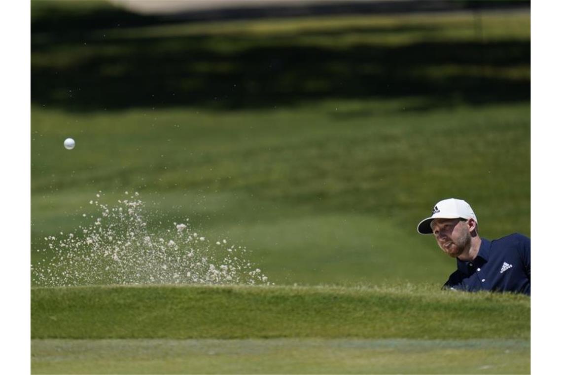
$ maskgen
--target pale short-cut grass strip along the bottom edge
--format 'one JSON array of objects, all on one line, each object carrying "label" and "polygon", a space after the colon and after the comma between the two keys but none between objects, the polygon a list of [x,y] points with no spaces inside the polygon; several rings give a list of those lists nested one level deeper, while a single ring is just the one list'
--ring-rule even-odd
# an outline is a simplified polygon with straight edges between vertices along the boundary
[{"label": "pale short-cut grass strip along the bottom edge", "polygon": [[[31,373],[518,374],[525,340],[32,340]],[[466,360],[470,358],[470,360]]]}]

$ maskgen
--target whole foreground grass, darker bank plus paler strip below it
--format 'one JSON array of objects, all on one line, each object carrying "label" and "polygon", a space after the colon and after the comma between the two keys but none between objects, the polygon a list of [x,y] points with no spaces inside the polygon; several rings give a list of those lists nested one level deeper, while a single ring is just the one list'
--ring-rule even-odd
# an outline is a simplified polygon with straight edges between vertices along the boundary
[{"label": "whole foreground grass, darker bank plus paler strip below it", "polygon": [[526,296],[427,286],[108,286],[31,293],[33,373],[530,370]]}]

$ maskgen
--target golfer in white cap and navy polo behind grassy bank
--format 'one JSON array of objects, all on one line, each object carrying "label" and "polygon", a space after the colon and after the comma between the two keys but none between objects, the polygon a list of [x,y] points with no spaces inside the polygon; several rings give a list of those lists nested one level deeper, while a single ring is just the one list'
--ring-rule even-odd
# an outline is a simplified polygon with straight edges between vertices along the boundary
[{"label": "golfer in white cap and navy polo behind grassy bank", "polygon": [[467,202],[455,198],[438,202],[432,215],[418,224],[418,232],[433,234],[441,250],[457,260],[457,269],[443,288],[531,295],[531,239],[519,233],[492,241],[481,238]]}]

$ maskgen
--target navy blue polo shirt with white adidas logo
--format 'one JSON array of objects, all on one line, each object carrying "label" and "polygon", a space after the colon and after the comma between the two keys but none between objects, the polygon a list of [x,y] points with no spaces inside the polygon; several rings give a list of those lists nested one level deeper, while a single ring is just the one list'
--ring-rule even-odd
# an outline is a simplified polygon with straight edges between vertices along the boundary
[{"label": "navy blue polo shirt with white adidas logo", "polygon": [[514,233],[499,240],[482,238],[472,261],[457,258],[457,270],[443,288],[516,292],[531,295],[531,239]]}]

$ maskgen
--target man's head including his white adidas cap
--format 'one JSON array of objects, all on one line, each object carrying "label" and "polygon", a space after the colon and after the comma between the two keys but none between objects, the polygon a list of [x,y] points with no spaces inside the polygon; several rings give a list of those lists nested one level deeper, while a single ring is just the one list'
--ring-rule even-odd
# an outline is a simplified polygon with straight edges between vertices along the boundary
[{"label": "man's head including his white adidas cap", "polygon": [[458,257],[478,237],[478,222],[467,202],[450,198],[435,205],[432,215],[418,224],[418,233],[433,234],[443,252]]}]

